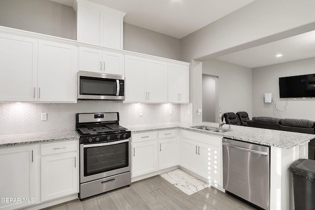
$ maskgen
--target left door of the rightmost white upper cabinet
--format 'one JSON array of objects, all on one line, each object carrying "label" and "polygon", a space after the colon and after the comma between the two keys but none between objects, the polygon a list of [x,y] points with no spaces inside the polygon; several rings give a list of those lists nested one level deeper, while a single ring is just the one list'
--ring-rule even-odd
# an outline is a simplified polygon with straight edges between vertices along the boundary
[{"label": "left door of the rightmost white upper cabinet", "polygon": [[169,63],[168,64],[168,102],[178,103],[179,102],[179,91],[178,91],[178,65]]}]

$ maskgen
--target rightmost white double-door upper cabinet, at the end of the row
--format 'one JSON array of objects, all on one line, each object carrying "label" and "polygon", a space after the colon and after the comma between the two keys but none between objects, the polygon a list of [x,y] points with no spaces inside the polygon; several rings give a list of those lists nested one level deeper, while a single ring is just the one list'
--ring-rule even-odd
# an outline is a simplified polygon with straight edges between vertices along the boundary
[{"label": "rightmost white double-door upper cabinet, at the end of the row", "polygon": [[168,102],[189,103],[189,66],[168,63]]}]

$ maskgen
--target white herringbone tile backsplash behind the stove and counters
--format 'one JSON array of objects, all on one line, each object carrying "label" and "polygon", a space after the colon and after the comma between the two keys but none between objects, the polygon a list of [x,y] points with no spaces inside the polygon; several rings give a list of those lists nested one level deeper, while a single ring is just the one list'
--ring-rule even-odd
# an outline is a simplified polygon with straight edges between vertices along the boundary
[{"label": "white herringbone tile backsplash behind the stove and counters", "polygon": [[[170,115],[169,110],[173,110]],[[143,116],[139,116],[142,110]],[[124,104],[121,101],[63,103],[0,103],[0,135],[74,130],[75,113],[119,112],[121,125],[181,120],[179,104]],[[41,121],[40,114],[48,113]],[[187,121],[187,120],[186,120]]]}]

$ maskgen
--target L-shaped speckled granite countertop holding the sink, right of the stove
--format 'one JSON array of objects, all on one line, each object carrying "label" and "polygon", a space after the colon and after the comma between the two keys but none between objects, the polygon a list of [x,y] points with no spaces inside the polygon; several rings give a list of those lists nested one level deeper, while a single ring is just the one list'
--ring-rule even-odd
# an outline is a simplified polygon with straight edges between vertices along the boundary
[{"label": "L-shaped speckled granite countertop holding the sink, right of the stove", "polygon": [[[156,130],[166,130],[181,128],[184,130],[194,131],[198,133],[211,134],[215,136],[221,136],[260,145],[268,145],[278,148],[290,149],[299,144],[306,143],[312,139],[315,139],[315,135],[306,133],[296,133],[280,130],[271,130],[255,127],[245,127],[239,125],[231,125],[231,131],[218,133],[214,131],[201,130],[197,128],[191,128],[191,126],[205,125],[209,127],[218,127],[218,123],[213,122],[199,122],[199,123],[186,123],[186,122],[168,122],[168,123],[156,123],[156,124],[144,124],[144,125],[123,125],[129,129],[132,133],[149,132]],[[222,126],[224,129],[228,129],[228,125]]]}]

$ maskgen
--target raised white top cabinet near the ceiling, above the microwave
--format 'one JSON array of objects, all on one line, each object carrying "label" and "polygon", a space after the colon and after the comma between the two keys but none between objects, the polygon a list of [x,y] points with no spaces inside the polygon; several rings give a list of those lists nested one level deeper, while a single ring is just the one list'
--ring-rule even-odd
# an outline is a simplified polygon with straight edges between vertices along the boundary
[{"label": "raised white top cabinet near the ceiling, above the microwave", "polygon": [[125,12],[88,0],[77,1],[77,40],[113,49],[123,49]]}]

